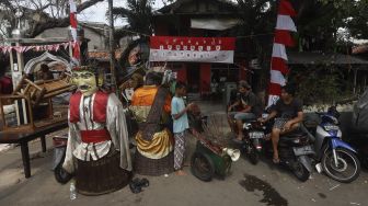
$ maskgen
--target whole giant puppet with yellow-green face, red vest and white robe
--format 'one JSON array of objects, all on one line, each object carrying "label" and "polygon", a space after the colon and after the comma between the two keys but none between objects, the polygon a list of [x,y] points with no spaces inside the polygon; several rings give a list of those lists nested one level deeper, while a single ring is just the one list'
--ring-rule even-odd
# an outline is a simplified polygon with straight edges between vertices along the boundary
[{"label": "whole giant puppet with yellow-green face, red vest and white robe", "polygon": [[123,105],[114,93],[99,90],[92,68],[72,72],[78,91],[69,105],[69,138],[64,169],[76,173],[76,187],[100,195],[124,187],[131,161]]}]

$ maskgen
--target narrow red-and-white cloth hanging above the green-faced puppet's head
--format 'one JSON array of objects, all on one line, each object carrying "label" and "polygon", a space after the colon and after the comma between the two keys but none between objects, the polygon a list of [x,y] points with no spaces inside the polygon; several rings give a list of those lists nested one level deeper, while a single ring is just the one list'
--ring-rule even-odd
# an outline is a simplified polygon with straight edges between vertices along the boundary
[{"label": "narrow red-and-white cloth hanging above the green-faced puppet's head", "polygon": [[73,38],[72,42],[72,64],[74,67],[80,66],[80,44],[78,41],[78,33],[77,33],[77,3],[74,0],[69,0],[70,4],[70,32]]}]

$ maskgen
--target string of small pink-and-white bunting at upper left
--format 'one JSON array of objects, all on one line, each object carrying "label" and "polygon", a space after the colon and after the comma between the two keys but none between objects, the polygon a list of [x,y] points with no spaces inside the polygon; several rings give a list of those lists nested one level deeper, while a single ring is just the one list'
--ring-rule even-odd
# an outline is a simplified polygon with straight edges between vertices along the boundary
[{"label": "string of small pink-and-white bunting at upper left", "polygon": [[0,46],[0,52],[3,54],[11,53],[13,50],[18,53],[26,53],[28,50],[43,52],[43,50],[51,50],[58,52],[59,49],[68,49],[68,47],[72,46],[74,48],[78,46],[77,43],[68,42],[68,43],[59,43],[59,44],[50,44],[50,45],[37,45],[37,46]]}]

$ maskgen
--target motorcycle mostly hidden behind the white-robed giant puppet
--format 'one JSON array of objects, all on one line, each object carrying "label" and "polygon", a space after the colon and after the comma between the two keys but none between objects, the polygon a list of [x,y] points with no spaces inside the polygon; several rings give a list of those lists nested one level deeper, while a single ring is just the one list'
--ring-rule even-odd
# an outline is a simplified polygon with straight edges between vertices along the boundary
[{"label": "motorcycle mostly hidden behind the white-robed giant puppet", "polygon": [[62,168],[62,163],[67,152],[68,137],[67,136],[57,136],[53,138],[54,144],[54,176],[58,183],[66,184],[72,178],[66,170]]}]

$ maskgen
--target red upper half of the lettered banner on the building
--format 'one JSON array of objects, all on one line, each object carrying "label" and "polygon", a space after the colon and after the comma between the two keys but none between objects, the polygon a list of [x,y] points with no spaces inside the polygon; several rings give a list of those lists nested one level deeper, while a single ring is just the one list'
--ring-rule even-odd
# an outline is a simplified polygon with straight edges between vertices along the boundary
[{"label": "red upper half of the lettered banner on the building", "polygon": [[[184,48],[186,46],[186,49]],[[150,48],[172,50],[234,50],[234,37],[151,36]],[[162,47],[162,48],[160,48]],[[209,49],[210,48],[210,49]],[[209,50],[208,50],[209,49]]]}]

